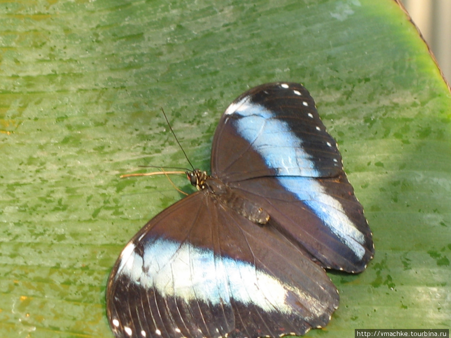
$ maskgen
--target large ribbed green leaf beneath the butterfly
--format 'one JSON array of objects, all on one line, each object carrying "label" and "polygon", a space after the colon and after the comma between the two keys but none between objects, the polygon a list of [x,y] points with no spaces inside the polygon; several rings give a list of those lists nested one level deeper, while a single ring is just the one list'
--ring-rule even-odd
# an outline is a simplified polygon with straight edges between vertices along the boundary
[{"label": "large ribbed green leaf beneath the butterfly", "polygon": [[[302,82],[374,233],[308,336],[449,328],[451,95],[391,0],[0,2],[0,336],[112,337],[108,273],[182,197],[139,165],[208,169],[220,114]],[[176,186],[192,191],[184,177]]]}]

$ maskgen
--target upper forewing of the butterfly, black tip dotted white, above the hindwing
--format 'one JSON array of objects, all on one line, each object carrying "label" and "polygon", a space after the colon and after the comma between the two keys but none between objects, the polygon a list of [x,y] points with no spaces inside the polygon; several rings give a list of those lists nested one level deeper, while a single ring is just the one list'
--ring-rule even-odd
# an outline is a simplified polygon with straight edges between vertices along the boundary
[{"label": "upper forewing of the butterfly, black tip dotted white, above the hindwing", "polygon": [[212,175],[224,182],[342,171],[341,155],[313,98],[293,83],[262,85],[237,98],[219,121],[211,154]]}]

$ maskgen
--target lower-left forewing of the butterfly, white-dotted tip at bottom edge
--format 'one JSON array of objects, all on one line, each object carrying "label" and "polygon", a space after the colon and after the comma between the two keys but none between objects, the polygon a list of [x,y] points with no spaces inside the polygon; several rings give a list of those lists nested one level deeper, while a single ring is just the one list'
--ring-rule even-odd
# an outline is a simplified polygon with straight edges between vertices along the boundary
[{"label": "lower-left forewing of the butterfly, white-dotted tip at bottom edge", "polygon": [[235,327],[205,199],[197,192],[167,208],[122,251],[107,288],[116,336],[213,337]]}]

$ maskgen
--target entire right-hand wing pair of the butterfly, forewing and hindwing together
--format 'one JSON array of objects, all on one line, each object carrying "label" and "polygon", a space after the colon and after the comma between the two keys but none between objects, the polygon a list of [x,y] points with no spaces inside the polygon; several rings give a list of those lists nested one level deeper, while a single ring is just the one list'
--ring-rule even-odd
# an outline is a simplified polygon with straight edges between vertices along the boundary
[{"label": "entire right-hand wing pair of the butterfly, forewing and hindwing together", "polygon": [[259,200],[274,225],[323,266],[359,272],[373,257],[337,144],[302,85],[266,84],[235,100],[214,134],[211,170]]}]

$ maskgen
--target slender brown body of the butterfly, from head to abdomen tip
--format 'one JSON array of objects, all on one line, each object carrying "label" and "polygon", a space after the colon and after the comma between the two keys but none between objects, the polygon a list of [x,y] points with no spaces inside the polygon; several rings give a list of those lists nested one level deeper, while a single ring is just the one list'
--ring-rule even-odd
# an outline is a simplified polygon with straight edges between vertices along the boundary
[{"label": "slender brown body of the butterfly, from head to abdomen tip", "polygon": [[266,224],[270,215],[258,203],[250,201],[221,180],[209,176],[205,171],[194,169],[186,176],[197,190],[204,191],[220,203],[227,205],[256,224]]}]

